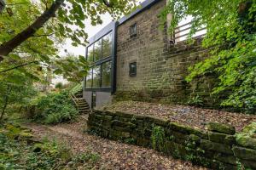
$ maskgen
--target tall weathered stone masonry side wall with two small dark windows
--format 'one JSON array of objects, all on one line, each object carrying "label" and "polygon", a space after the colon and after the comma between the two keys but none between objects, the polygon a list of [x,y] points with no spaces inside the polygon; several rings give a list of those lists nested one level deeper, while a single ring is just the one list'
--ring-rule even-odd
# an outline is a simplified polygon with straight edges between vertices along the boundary
[{"label": "tall weathered stone masonry side wall with two small dark windows", "polygon": [[[208,57],[201,48],[201,38],[195,44],[178,42],[169,47],[166,29],[160,29],[158,15],[166,6],[161,0],[151,8],[127,20],[117,29],[117,92],[116,97],[148,99],[166,103],[184,103],[200,95],[205,105],[215,104],[210,95],[212,77],[185,82],[189,65]],[[130,26],[137,23],[137,37],[130,37]],[[129,76],[129,63],[137,62],[137,77]]]}]

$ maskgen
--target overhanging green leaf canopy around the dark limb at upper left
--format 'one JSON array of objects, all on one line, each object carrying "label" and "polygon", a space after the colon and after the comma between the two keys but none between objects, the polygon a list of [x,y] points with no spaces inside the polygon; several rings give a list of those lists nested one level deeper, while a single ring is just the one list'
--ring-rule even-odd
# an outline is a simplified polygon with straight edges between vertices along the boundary
[{"label": "overhanging green leaf canopy around the dark limb at upper left", "polygon": [[[0,18],[0,44],[9,42],[21,31],[38,19],[38,16],[49,9],[54,1],[7,0],[6,8]],[[90,20],[91,25],[102,24],[102,14],[109,13],[113,18],[131,12],[135,8],[134,1],[63,1],[55,17],[50,18],[42,28],[32,37],[22,42],[9,56],[3,57],[0,71],[6,71],[19,65],[38,67],[42,71],[54,71],[57,75],[64,75],[68,81],[80,82],[87,74],[88,64],[84,56],[67,54],[66,58],[58,55],[58,48],[66,39],[72,40],[73,46],[87,42],[87,33],[84,31],[84,20]],[[8,47],[7,47],[8,48]],[[54,65],[54,66],[52,66]],[[40,69],[41,67],[41,69]],[[20,69],[30,77],[39,78],[37,70]]]}]

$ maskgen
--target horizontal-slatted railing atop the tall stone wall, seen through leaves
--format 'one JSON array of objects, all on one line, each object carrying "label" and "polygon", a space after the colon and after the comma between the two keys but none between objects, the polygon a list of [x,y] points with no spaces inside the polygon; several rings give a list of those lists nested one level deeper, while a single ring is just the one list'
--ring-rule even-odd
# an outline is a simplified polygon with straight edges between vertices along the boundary
[{"label": "horizontal-slatted railing atop the tall stone wall, seen through leaves", "polygon": [[[189,31],[191,29],[191,23],[192,22],[188,22],[186,24],[183,24],[182,26],[177,26],[174,30],[173,33],[173,41],[176,42],[181,42],[183,40],[186,40],[187,37],[189,36]],[[206,33],[204,32],[204,30],[206,31],[206,26],[203,26],[202,28],[196,30],[194,37],[203,37]],[[200,31],[203,31],[203,33],[201,33]]]}]

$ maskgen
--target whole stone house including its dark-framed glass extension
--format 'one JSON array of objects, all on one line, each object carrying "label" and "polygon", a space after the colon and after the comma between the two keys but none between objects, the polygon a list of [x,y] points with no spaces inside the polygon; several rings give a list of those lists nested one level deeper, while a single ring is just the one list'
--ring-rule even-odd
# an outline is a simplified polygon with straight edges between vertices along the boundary
[{"label": "whole stone house including its dark-framed glass extension", "polygon": [[212,106],[211,77],[187,83],[189,65],[208,56],[201,48],[198,31],[195,43],[188,36],[189,21],[183,20],[170,37],[160,29],[159,14],[166,0],[146,0],[133,13],[113,21],[90,38],[86,58],[91,63],[84,78],[84,99],[91,107],[116,99],[146,99],[150,102],[184,103],[200,95]]}]

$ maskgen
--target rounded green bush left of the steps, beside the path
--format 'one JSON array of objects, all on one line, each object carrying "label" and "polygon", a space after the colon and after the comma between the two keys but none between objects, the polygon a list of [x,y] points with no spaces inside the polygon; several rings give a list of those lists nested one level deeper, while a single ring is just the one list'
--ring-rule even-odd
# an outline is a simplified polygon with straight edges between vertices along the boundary
[{"label": "rounded green bush left of the steps, beside the path", "polygon": [[67,122],[79,115],[67,91],[42,96],[36,103],[37,111],[33,118],[39,122]]}]

